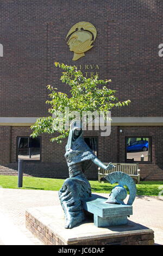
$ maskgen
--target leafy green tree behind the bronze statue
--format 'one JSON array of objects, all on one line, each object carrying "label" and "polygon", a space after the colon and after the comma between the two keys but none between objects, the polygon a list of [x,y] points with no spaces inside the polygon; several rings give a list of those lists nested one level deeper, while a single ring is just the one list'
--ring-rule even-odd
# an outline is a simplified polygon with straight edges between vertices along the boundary
[{"label": "leafy green tree behind the bronze statue", "polygon": [[[99,80],[98,76],[86,78],[83,76],[80,70],[77,70],[74,66],[68,66],[55,62],[56,67],[59,66],[64,72],[60,80],[70,88],[71,96],[68,97],[66,93],[58,92],[57,88],[53,88],[48,85],[47,88],[50,92],[49,100],[46,101],[51,107],[48,109],[48,113],[51,114],[48,117],[38,118],[36,123],[31,126],[33,129],[32,137],[37,137],[41,133],[48,133],[53,135],[51,141],[62,142],[62,139],[68,136],[69,130],[66,130],[65,125],[59,126],[59,122],[65,123],[65,117],[62,114],[65,113],[65,107],[69,108],[69,120],[71,121],[74,117],[71,116],[71,112],[77,111],[82,117],[82,113],[94,112],[106,113],[114,107],[126,106],[130,103],[130,100],[118,101],[115,96],[116,90],[108,88],[108,83],[111,80]],[[52,115],[55,114],[54,119]],[[55,129],[54,129],[55,127]],[[56,136],[57,132],[57,136]]]}]

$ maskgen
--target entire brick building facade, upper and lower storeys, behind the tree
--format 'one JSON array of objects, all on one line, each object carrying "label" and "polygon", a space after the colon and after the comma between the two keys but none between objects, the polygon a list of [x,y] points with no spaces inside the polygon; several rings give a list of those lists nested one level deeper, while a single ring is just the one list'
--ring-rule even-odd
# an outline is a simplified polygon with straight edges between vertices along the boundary
[{"label": "entire brick building facade, upper and lower storeys, behind the tree", "polygon": [[[47,84],[68,93],[68,87],[59,81],[60,70],[53,65],[58,61],[78,65],[86,76],[98,71],[102,79],[111,78],[109,86],[117,90],[120,100],[131,100],[128,107],[112,110],[109,137],[98,131],[85,132],[86,137],[97,138],[98,158],[128,162],[126,149],[131,139],[141,139],[148,142],[148,161],[139,163],[141,179],[162,180],[163,87],[158,55],[162,14],[159,0],[2,0],[0,165],[17,168],[17,139],[28,137],[36,118],[48,115]],[[80,21],[92,23],[97,38],[85,57],[74,62],[65,38]],[[40,136],[40,161],[26,161],[26,173],[66,178],[66,141],[58,145],[49,142],[49,135]],[[87,177],[97,179],[95,166]]]}]

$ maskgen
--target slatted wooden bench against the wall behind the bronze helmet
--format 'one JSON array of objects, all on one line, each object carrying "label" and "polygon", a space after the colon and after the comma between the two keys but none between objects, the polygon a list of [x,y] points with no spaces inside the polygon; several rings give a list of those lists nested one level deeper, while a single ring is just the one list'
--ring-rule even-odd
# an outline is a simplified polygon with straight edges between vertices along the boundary
[{"label": "slatted wooden bench against the wall behind the bronze helmet", "polygon": [[[106,166],[109,163],[104,163]],[[105,175],[112,173],[112,172],[123,172],[131,176],[131,178],[137,181],[137,184],[140,183],[140,169],[138,163],[112,163],[114,164],[115,168],[110,170],[105,170],[101,167],[98,167],[98,182],[101,182],[101,178]]]}]

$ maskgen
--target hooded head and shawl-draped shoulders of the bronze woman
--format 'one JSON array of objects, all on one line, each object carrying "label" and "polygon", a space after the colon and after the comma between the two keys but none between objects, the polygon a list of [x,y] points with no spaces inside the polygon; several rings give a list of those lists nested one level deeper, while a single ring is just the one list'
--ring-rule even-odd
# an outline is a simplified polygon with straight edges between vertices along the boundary
[{"label": "hooded head and shawl-draped shoulders of the bronze woman", "polygon": [[80,121],[73,121],[70,125],[65,154],[68,167],[81,162],[83,170],[86,170],[91,166],[91,160],[96,157],[83,139],[83,130]]}]

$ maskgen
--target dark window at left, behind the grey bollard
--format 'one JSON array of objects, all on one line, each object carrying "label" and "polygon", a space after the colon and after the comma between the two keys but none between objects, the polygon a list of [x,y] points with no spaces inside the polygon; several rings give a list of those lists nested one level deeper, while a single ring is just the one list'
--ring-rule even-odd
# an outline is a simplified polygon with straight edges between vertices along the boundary
[{"label": "dark window at left, behind the grey bollard", "polygon": [[41,137],[17,137],[17,159],[41,160]]}]

